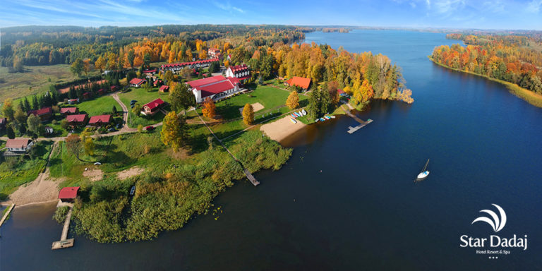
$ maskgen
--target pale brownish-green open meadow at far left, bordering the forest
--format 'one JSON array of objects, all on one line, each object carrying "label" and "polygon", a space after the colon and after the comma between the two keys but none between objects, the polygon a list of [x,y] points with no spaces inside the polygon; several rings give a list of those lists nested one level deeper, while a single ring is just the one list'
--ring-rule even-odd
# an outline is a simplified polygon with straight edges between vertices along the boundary
[{"label": "pale brownish-green open meadow at far left, bordering the forest", "polygon": [[[96,76],[92,71],[89,76]],[[8,73],[0,67],[0,101],[6,98],[20,98],[49,90],[49,85],[78,79],[70,71],[70,65],[25,66],[24,73]],[[30,88],[32,88],[30,90]]]}]

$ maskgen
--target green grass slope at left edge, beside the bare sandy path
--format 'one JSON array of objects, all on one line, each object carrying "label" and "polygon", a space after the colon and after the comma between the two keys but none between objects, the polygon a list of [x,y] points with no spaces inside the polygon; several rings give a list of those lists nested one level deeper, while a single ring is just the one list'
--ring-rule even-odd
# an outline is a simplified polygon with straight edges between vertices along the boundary
[{"label": "green grass slope at left edge, beside the bare sandy path", "polygon": [[0,152],[0,200],[16,191],[17,187],[34,181],[47,162],[52,142],[40,141],[35,147],[35,157],[4,157]]}]

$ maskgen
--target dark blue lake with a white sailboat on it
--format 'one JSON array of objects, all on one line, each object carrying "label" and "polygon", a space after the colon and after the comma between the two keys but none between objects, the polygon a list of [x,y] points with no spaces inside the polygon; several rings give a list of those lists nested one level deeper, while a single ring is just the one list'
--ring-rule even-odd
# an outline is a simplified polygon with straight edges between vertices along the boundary
[{"label": "dark blue lake with a white sailboat on it", "polygon": [[[542,266],[542,109],[498,84],[427,56],[445,34],[312,32],[306,42],[371,51],[402,67],[414,104],[375,101],[353,134],[340,116],[284,142],[279,171],[219,195],[201,215],[153,241],[102,244],[76,236],[51,251],[54,205],[20,207],[1,228],[0,270],[533,270]],[[430,158],[430,175],[414,179]],[[471,224],[500,205],[495,233]],[[496,211],[496,210],[495,210]],[[462,235],[528,235],[529,247],[489,259]]]}]

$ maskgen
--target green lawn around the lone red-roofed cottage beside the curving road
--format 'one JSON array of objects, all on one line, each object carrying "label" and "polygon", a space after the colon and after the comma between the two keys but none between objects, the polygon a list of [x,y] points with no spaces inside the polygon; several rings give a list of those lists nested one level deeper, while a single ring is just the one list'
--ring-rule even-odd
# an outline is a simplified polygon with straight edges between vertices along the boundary
[{"label": "green lawn around the lone red-roofed cottage beside the curving road", "polygon": [[[131,100],[138,101],[137,103],[142,106],[143,104],[146,104],[147,102],[150,102],[157,98],[162,99],[164,102],[169,102],[169,93],[159,92],[158,88],[153,88],[151,92],[147,92],[143,88],[131,88],[131,90],[128,92],[120,93],[119,98],[121,99],[121,102],[123,102],[126,107],[128,107],[128,110],[130,110]],[[158,112],[154,116],[135,116],[135,114],[130,112],[128,116],[128,127],[135,128],[139,124],[143,126],[149,126],[159,123],[160,121],[162,121],[162,119],[164,119],[164,114],[162,112]]]}]

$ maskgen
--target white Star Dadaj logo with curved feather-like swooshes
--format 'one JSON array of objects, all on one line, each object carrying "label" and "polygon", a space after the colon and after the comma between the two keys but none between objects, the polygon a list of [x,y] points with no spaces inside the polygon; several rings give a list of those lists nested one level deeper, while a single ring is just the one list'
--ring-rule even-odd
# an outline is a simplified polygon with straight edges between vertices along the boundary
[{"label": "white Star Dadaj logo with curved feather-like swooshes", "polygon": [[[497,212],[492,210],[480,210],[488,216],[476,217],[471,222],[486,222],[491,226],[493,232],[497,233],[504,229],[507,217],[505,210],[499,205],[492,204],[497,208]],[[527,250],[527,234],[512,234],[511,236],[500,236],[497,234],[490,234],[488,236],[470,236],[463,234],[459,237],[462,248],[475,248],[476,254],[482,254],[488,256],[490,259],[498,259],[500,255],[509,255],[512,250],[521,249]]]}]

